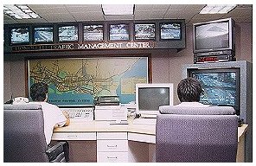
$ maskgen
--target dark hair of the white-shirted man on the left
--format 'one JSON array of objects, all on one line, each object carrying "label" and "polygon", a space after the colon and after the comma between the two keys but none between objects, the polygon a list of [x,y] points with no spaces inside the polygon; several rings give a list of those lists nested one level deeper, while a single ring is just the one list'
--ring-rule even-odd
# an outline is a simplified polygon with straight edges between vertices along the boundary
[{"label": "dark hair of the white-shirted man on the left", "polygon": [[38,82],[30,86],[30,97],[33,101],[44,101],[48,93],[48,85]]}]

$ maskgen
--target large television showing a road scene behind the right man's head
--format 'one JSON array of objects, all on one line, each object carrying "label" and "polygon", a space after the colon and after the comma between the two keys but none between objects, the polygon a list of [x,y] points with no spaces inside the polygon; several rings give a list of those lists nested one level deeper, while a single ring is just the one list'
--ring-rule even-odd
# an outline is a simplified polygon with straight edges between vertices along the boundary
[{"label": "large television showing a road scene behind the right man's head", "polygon": [[240,68],[191,69],[188,72],[189,77],[202,84],[202,104],[233,106],[240,115]]}]

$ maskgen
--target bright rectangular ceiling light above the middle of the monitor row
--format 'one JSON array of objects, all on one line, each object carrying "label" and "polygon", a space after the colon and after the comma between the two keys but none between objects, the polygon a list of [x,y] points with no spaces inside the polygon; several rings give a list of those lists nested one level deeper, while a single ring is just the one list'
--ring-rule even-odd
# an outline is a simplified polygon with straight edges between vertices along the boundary
[{"label": "bright rectangular ceiling light above the middle of the monitor row", "polygon": [[102,4],[104,15],[133,15],[134,4]]}]

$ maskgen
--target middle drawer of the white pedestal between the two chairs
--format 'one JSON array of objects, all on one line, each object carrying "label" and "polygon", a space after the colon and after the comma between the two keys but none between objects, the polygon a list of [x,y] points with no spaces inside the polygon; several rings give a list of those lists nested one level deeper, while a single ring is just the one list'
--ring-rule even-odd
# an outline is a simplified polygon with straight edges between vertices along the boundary
[{"label": "middle drawer of the white pedestal between the two chairs", "polygon": [[128,151],[128,140],[97,140],[97,151]]}]

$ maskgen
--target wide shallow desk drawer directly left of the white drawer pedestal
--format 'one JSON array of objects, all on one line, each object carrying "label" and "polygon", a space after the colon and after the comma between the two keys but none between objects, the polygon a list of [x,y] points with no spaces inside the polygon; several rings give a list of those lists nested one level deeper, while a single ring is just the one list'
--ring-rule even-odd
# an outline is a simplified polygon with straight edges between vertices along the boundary
[{"label": "wide shallow desk drawer directly left of the white drawer pedestal", "polygon": [[96,132],[54,132],[52,140],[96,140]]}]

